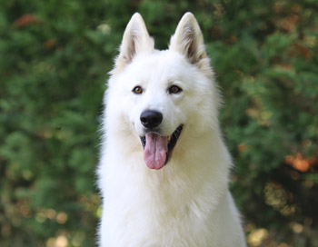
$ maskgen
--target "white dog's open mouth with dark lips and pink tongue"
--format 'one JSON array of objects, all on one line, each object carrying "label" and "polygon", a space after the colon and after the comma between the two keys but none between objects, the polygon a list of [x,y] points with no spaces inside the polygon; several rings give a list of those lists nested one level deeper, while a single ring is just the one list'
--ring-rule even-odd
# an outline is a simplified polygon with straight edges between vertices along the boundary
[{"label": "white dog's open mouth with dark lips and pink tongue", "polygon": [[146,133],[140,137],[144,147],[144,161],[149,168],[158,170],[168,163],[183,128],[183,124],[179,125],[170,136]]}]

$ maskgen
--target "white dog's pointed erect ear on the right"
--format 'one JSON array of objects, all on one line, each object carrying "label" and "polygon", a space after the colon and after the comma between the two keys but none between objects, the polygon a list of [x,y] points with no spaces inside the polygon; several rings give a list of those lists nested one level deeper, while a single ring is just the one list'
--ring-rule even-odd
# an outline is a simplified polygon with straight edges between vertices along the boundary
[{"label": "white dog's pointed erect ear on the right", "polygon": [[203,65],[201,60],[207,60],[204,47],[204,37],[194,15],[185,13],[171,37],[169,49],[184,54],[191,64],[199,67]]}]

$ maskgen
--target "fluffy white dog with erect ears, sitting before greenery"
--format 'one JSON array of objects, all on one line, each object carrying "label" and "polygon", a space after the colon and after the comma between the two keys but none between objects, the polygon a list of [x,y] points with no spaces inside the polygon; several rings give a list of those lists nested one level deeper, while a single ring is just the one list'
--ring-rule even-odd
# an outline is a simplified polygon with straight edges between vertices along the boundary
[{"label": "fluffy white dog with erect ears, sitting before greenery", "polygon": [[245,246],[228,189],[220,95],[194,15],[185,14],[169,49],[157,51],[134,14],[111,74],[99,246]]}]

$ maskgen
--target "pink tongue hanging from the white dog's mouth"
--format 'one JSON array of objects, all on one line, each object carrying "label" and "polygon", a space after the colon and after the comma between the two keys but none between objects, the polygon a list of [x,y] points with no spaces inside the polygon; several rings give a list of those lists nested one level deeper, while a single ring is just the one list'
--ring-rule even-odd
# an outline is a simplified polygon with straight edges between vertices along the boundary
[{"label": "pink tongue hanging from the white dog's mouth", "polygon": [[144,162],[150,169],[161,169],[164,167],[168,141],[164,136],[155,133],[145,134]]}]

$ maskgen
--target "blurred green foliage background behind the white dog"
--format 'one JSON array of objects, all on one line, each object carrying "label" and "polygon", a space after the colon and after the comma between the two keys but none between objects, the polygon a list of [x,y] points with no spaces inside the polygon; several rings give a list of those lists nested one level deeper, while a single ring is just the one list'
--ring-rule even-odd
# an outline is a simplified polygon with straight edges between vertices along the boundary
[{"label": "blurred green foliage background behind the white dog", "polygon": [[318,246],[316,0],[2,1],[0,246],[95,246],[106,73],[136,11],[160,49],[184,12],[202,27],[249,246]]}]

